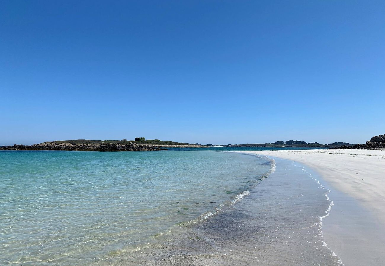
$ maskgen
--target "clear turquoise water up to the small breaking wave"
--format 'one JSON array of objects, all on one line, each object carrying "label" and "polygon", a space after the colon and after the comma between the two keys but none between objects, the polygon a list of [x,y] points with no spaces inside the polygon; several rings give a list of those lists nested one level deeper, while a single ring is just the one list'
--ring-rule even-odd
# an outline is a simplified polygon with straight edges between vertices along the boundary
[{"label": "clear turquoise water up to the small breaking wave", "polygon": [[221,151],[1,151],[0,264],[129,254],[235,203],[270,169]]}]

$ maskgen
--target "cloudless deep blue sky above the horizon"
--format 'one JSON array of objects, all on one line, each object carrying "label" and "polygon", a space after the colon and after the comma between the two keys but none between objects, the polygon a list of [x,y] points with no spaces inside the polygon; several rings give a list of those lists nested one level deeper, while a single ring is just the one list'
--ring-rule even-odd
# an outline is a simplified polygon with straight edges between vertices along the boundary
[{"label": "cloudless deep blue sky above the horizon", "polygon": [[364,143],[384,1],[0,2],[0,145]]}]

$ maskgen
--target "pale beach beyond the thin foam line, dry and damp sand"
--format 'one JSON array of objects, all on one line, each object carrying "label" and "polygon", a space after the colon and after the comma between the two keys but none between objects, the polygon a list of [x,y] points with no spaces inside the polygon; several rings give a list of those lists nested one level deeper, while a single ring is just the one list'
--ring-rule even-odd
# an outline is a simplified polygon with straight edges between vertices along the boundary
[{"label": "pale beach beyond the thin foam line, dry and damp sand", "polygon": [[335,190],[330,195],[335,205],[323,223],[328,246],[345,265],[385,265],[385,150],[244,152],[296,161],[316,171]]}]

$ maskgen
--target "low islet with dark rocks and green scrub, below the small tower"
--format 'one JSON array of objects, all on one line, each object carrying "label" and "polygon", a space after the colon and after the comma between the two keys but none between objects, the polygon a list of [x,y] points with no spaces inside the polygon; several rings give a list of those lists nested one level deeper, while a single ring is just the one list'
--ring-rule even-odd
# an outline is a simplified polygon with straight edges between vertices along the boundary
[{"label": "low islet with dark rocks and green scrub, below the small tower", "polygon": [[0,150],[55,150],[55,151],[159,151],[166,150],[160,147],[148,144],[129,144],[105,143],[100,144],[70,144],[70,143],[40,143],[33,145],[13,145],[0,146]]}]

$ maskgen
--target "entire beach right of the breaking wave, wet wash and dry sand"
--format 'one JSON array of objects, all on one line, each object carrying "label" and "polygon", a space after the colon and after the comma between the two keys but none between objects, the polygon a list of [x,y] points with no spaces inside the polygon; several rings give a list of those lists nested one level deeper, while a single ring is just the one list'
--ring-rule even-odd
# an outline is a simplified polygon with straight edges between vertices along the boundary
[{"label": "entire beach right of the breaking wave, wet wash and dry sand", "polygon": [[97,265],[384,265],[385,151],[241,153],[273,159],[247,196]]}]

